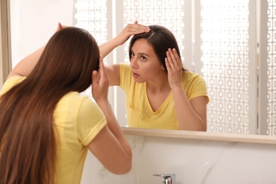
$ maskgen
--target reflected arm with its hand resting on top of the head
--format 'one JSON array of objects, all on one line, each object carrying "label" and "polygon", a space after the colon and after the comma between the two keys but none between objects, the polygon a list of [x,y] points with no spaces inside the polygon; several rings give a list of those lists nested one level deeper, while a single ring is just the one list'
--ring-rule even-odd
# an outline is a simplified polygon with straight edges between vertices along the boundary
[{"label": "reflected arm with its hand resting on top of the head", "polygon": [[[149,32],[149,30],[150,30],[149,27],[138,24],[137,21],[135,21],[133,24],[128,24],[119,35],[117,35],[112,40],[105,42],[103,45],[99,46],[100,54],[103,57],[105,57],[110,52],[112,52],[115,49],[115,47],[118,47],[124,44],[130,38],[131,35],[147,33]],[[120,84],[119,64],[113,64],[113,65],[107,66],[105,69],[108,75],[109,85],[110,86],[119,85]]]}]

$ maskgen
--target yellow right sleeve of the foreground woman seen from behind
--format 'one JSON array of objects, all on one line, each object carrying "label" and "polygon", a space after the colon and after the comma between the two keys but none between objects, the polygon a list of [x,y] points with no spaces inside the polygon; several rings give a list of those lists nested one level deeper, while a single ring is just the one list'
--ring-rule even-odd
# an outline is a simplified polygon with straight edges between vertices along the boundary
[{"label": "yellow right sleeve of the foreground woman seen from behind", "polygon": [[96,103],[86,98],[79,108],[76,120],[76,134],[87,146],[106,125],[105,115]]}]

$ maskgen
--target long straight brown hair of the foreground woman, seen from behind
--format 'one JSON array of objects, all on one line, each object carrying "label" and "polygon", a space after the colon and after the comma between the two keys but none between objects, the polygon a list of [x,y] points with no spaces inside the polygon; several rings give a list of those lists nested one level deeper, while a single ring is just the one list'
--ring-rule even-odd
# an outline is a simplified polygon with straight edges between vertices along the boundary
[{"label": "long straight brown hair of the foreground woman, seen from behind", "polygon": [[1,96],[0,183],[54,183],[54,108],[69,91],[91,85],[99,54],[86,30],[59,30],[31,74]]}]

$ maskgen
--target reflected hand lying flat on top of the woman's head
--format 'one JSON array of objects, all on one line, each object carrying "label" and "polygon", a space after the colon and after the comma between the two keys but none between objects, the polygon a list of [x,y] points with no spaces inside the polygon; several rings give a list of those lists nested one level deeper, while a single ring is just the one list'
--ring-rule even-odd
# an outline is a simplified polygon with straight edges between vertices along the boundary
[{"label": "reflected hand lying flat on top of the woman's head", "polygon": [[150,28],[146,25],[141,25],[137,21],[131,24],[127,24],[125,28],[117,35],[117,45],[124,44],[132,35],[137,35],[141,33],[148,33]]}]

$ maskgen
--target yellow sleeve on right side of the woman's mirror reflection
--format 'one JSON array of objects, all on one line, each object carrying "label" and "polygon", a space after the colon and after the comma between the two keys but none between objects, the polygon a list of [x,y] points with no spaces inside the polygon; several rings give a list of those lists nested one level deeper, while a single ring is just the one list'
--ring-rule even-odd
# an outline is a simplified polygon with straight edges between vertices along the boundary
[{"label": "yellow sleeve on right side of the woman's mirror reflection", "polygon": [[188,99],[191,100],[198,96],[206,96],[207,103],[209,103],[207,85],[205,79],[200,75],[195,76],[195,79],[192,80],[190,91],[188,91]]}]

